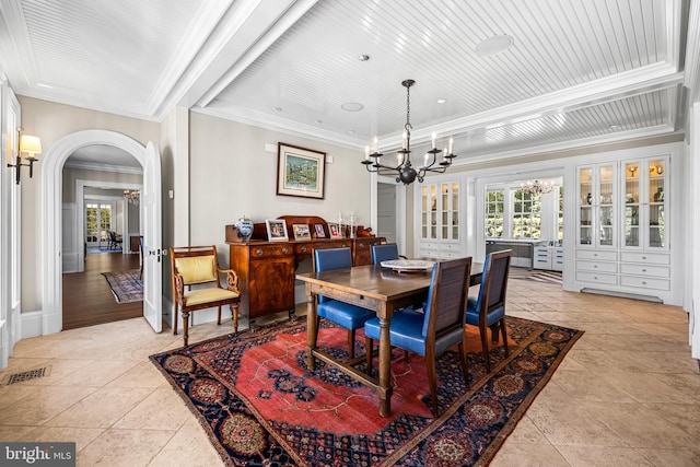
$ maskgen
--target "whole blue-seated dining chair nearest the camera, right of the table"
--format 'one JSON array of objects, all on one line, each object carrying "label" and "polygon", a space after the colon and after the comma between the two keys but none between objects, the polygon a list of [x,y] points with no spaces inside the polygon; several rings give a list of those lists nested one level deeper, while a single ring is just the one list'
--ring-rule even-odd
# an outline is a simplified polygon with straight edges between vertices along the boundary
[{"label": "whole blue-seated dining chair nearest the camera, right of the table", "polygon": [[[436,262],[428,289],[428,305],[423,313],[401,311],[389,324],[392,347],[416,352],[425,358],[433,416],[438,417],[438,355],[457,345],[464,382],[469,387],[465,347],[465,314],[471,257]],[[380,338],[380,320],[364,324],[368,348]],[[371,352],[368,351],[368,373],[372,374]]]}]

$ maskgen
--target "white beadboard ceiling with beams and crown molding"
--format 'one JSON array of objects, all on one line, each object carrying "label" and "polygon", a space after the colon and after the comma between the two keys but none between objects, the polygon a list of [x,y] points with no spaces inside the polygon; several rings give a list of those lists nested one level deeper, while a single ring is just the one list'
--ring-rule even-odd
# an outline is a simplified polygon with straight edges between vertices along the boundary
[{"label": "white beadboard ceiling with beams and crown molding", "polygon": [[454,137],[458,164],[682,131],[697,3],[2,0],[0,72],[31,97],[361,151],[398,147],[412,79],[413,148]]}]

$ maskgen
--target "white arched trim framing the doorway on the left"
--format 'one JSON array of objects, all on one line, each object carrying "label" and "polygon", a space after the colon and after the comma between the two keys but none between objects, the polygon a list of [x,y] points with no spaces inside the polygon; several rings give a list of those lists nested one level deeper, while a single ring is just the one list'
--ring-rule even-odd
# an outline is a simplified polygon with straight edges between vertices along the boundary
[{"label": "white arched trim framing the doorway on the left", "polygon": [[[66,160],[77,150],[93,145],[104,144],[120,148],[131,154],[144,167],[144,191],[151,194],[158,192],[158,196],[147,197],[150,200],[149,212],[155,212],[156,219],[161,219],[161,197],[160,197],[160,155],[152,143],[147,147],[141,145],[138,141],[107,130],[84,130],[68,135],[57,141],[46,153],[44,157],[44,167],[42,176],[42,220],[44,235],[42,240],[42,259],[44,269],[42,271],[42,302],[43,302],[43,319],[42,334],[58,332],[62,329],[62,260],[61,260],[61,188],[62,188],[62,168]],[[158,172],[154,177],[151,172]],[[158,182],[155,182],[158,178]],[[148,232],[148,231],[151,232]],[[144,235],[159,237],[160,245],[160,226],[158,232],[153,232],[154,227],[150,223],[144,223]],[[160,271],[152,271],[160,273]],[[153,275],[148,275],[152,277]],[[161,291],[148,291],[149,285],[161,288],[162,278],[159,276],[158,281],[144,280],[144,295],[161,296]],[[149,293],[150,292],[150,293]],[[145,306],[145,303],[144,303]],[[158,303],[151,303],[151,307],[155,307],[159,313],[161,308],[160,300]],[[144,312],[145,313],[145,312]],[[151,322],[151,319],[149,319]],[[160,331],[159,327],[155,329]],[[153,324],[153,323],[152,323]],[[155,328],[155,326],[154,326]]]}]

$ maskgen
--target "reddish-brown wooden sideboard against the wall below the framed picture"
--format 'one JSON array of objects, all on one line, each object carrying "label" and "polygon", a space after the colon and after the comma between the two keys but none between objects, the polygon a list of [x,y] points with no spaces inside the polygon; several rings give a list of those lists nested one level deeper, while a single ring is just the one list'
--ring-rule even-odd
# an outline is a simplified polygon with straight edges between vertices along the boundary
[{"label": "reddish-brown wooden sideboard against the wall below the framed picture", "polygon": [[250,240],[243,243],[234,226],[226,225],[229,264],[238,275],[242,292],[238,313],[248,317],[250,327],[256,318],[268,314],[288,312],[293,316],[296,267],[311,258],[315,248],[350,247],[353,264],[361,266],[372,264],[372,245],[381,243],[386,243],[386,238]]}]

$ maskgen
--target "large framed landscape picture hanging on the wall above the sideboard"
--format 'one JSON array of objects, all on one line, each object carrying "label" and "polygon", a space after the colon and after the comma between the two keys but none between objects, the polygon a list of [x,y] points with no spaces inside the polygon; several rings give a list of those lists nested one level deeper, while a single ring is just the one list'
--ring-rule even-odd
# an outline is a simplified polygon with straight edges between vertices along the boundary
[{"label": "large framed landscape picture hanging on the wall above the sideboard", "polygon": [[324,199],[326,153],[278,143],[277,195]]}]

